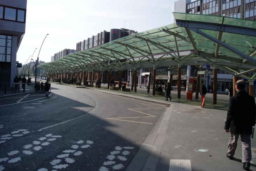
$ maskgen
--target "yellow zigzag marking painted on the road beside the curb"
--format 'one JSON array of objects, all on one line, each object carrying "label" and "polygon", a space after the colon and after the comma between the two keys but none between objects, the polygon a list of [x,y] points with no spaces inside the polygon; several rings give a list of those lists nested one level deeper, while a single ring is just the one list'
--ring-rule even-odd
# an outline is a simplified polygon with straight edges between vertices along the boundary
[{"label": "yellow zigzag marking painted on the road beside the curb", "polygon": [[[142,104],[142,103],[141,103]],[[163,108],[159,108],[159,107],[155,107],[154,105],[149,105],[149,104],[143,104],[143,105],[147,105],[147,106],[151,106],[154,108],[138,108],[138,109],[163,109]],[[159,105],[159,104],[155,104],[155,105]],[[137,110],[138,110],[137,109]],[[144,124],[152,124],[152,123],[147,123],[147,122],[136,122],[136,121],[129,121],[129,120],[123,120],[123,119],[131,119],[131,118],[149,118],[149,117],[156,117],[154,115],[150,115],[150,114],[146,114],[144,112],[141,111],[137,111],[135,109],[129,109],[135,112],[139,112],[141,114],[145,114],[145,115],[149,115],[149,116],[138,116],[138,117],[119,117],[119,118],[105,118],[105,119],[112,119],[112,120],[118,120],[118,121],[126,121],[126,122],[135,122],[135,123],[144,123]]]}]

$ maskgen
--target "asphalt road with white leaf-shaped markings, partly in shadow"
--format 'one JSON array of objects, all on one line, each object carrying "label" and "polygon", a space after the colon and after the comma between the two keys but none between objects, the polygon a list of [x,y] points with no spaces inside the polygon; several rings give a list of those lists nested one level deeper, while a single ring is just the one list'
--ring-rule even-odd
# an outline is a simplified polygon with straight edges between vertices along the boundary
[{"label": "asphalt road with white leaf-shaped markings, partly in shadow", "polygon": [[125,170],[166,107],[92,89],[51,89],[49,97],[17,96],[41,99],[0,107],[0,171]]}]

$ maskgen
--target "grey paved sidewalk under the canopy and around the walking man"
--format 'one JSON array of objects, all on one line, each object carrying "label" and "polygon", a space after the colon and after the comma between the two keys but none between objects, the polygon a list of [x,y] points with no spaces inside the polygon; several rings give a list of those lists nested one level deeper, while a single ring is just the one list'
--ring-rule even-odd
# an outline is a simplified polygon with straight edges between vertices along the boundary
[{"label": "grey paved sidewalk under the canopy and around the walking man", "polygon": [[[63,86],[65,85],[68,84],[63,84]],[[68,86],[85,88],[71,84]],[[134,91],[109,90],[106,86],[107,84],[102,84],[101,88],[88,88],[102,93],[169,106],[143,142],[127,171],[243,170],[240,142],[238,142],[234,160],[229,160],[226,157],[229,133],[224,131],[224,122],[227,116],[229,96],[217,94],[217,104],[212,104],[213,95],[206,94],[206,106],[201,108],[200,96],[196,101],[195,93],[193,100],[187,100],[186,93],[181,92],[181,98],[178,99],[177,91],[171,91],[172,100],[165,101],[164,96],[153,96],[151,89],[148,94],[147,89],[137,88],[137,93],[134,93]],[[54,87],[53,83],[52,87]],[[10,93],[10,91],[8,92]],[[0,90],[1,95],[2,90]],[[255,139],[252,139],[251,146],[250,169],[256,170],[254,164],[256,163]]]}]

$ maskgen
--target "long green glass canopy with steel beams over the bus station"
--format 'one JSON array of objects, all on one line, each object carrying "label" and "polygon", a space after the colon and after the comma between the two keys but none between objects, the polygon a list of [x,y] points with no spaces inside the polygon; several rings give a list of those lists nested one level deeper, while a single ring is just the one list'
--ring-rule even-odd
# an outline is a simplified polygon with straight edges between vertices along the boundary
[{"label": "long green glass canopy with steel beams over the bus station", "polygon": [[203,64],[233,76],[256,70],[256,22],[173,13],[176,23],[132,34],[38,67],[49,73],[126,70]]}]

